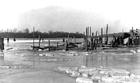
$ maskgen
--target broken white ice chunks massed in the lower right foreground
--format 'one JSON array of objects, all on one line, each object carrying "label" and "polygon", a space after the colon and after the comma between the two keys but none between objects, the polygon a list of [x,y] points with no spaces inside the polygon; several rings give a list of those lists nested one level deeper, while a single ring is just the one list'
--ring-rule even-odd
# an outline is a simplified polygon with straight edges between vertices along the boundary
[{"label": "broken white ice chunks massed in the lower right foreground", "polygon": [[124,69],[104,67],[58,67],[70,77],[76,78],[76,83],[140,83],[140,75],[135,75]]}]

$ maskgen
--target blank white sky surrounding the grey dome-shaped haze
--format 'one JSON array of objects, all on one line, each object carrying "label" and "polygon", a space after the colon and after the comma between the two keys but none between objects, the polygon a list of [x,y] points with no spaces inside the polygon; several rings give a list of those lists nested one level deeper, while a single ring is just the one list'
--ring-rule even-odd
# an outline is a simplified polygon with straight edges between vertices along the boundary
[{"label": "blank white sky surrounding the grey dome-shaped haze", "polygon": [[119,20],[126,30],[140,27],[139,0],[0,0],[0,28],[13,28],[22,13],[49,6],[60,6],[92,12],[104,18]]}]

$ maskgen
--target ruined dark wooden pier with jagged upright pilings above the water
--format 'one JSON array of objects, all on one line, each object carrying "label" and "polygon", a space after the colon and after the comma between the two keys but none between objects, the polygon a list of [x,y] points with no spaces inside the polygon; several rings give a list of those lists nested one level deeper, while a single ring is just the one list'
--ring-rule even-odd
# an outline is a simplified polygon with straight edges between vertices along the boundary
[{"label": "ruined dark wooden pier with jagged upright pilings above the water", "polygon": [[[34,29],[33,29],[34,30]],[[112,33],[109,34],[109,26],[106,25],[105,33],[103,33],[103,28],[101,28],[100,33],[98,31],[92,32],[91,26],[86,27],[84,41],[78,42],[76,38],[73,37],[74,41],[72,42],[70,35],[67,38],[63,38],[62,42],[56,42],[56,46],[51,45],[51,40],[48,40],[48,46],[41,47],[39,37],[39,45],[34,46],[34,34],[33,34],[33,49],[48,49],[51,50],[96,50],[98,47],[100,48],[113,48],[113,47],[123,47],[123,46],[134,46],[140,45],[140,33],[138,34],[133,28],[130,32],[121,32],[121,33]],[[125,39],[128,38],[127,44],[124,44]],[[82,45],[83,47],[78,47],[78,45]]]}]

